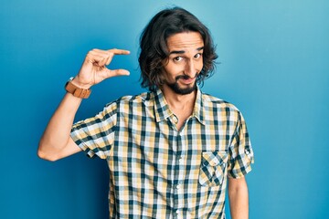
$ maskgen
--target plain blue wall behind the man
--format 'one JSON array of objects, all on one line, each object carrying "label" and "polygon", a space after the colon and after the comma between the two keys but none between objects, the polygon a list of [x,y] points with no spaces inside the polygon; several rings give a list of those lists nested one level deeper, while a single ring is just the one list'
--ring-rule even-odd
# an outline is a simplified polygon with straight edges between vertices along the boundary
[{"label": "plain blue wall behind the man", "polygon": [[[256,155],[250,218],[329,218],[329,2],[316,0],[11,0],[0,7],[0,218],[107,218],[106,162],[37,158],[63,86],[94,48],[125,48],[77,120],[143,91],[138,38],[166,6],[194,13],[217,43],[207,93],[238,106]],[[228,211],[228,210],[227,210]],[[229,217],[228,217],[229,218]]]}]

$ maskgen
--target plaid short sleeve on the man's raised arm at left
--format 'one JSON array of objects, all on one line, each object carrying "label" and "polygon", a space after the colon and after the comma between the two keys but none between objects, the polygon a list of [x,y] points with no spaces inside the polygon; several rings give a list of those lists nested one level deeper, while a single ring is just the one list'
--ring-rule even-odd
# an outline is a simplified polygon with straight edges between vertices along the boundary
[{"label": "plaid short sleeve on the man's raised arm at left", "polygon": [[108,104],[95,117],[75,123],[70,137],[90,157],[106,159],[111,154],[117,122],[117,104]]}]

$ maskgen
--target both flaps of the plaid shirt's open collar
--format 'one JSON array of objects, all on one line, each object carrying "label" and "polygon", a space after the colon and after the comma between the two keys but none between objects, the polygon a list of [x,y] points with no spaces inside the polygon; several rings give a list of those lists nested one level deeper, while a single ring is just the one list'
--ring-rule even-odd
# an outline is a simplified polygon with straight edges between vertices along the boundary
[{"label": "both flaps of the plaid shirt's open collar", "polygon": [[[202,92],[197,87],[196,90],[196,102],[194,106],[193,113],[191,117],[195,117],[200,123],[205,124],[204,116],[204,105],[202,99]],[[155,121],[160,122],[166,120],[168,117],[172,116],[174,113],[169,109],[169,105],[164,99],[164,93],[161,89],[157,89],[154,93],[154,112],[155,112]]]}]

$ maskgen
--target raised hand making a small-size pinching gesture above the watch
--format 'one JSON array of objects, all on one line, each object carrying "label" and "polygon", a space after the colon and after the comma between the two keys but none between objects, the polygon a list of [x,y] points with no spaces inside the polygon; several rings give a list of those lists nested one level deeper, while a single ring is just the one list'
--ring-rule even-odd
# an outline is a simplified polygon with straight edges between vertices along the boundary
[{"label": "raised hand making a small-size pinching gesture above the watch", "polygon": [[117,48],[109,50],[92,49],[87,54],[78,76],[75,77],[72,82],[82,89],[90,89],[91,86],[100,83],[106,78],[129,75],[128,70],[111,70],[106,67],[111,63],[115,55],[128,54],[130,54],[130,51]]}]

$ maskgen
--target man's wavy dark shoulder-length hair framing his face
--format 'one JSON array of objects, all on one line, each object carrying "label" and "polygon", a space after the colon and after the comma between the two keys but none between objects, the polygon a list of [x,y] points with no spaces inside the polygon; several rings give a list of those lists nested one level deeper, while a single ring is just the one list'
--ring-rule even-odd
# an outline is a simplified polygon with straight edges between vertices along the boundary
[{"label": "man's wavy dark shoulder-length hair framing his face", "polygon": [[174,7],[160,11],[143,29],[140,37],[141,53],[138,58],[143,88],[154,91],[164,84],[162,62],[169,56],[166,39],[174,34],[189,31],[200,33],[204,41],[203,68],[196,78],[197,83],[202,84],[213,74],[218,56],[207,26],[185,9]]}]

